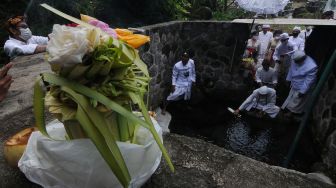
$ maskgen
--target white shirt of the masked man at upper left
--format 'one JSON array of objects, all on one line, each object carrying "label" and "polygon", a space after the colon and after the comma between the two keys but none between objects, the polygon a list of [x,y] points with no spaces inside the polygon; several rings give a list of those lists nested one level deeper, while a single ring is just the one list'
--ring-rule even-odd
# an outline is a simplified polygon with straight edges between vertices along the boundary
[{"label": "white shirt of the masked man at upper left", "polygon": [[18,55],[29,55],[35,52],[38,45],[47,45],[48,37],[32,36],[27,42],[9,37],[4,45],[5,53],[14,58]]}]

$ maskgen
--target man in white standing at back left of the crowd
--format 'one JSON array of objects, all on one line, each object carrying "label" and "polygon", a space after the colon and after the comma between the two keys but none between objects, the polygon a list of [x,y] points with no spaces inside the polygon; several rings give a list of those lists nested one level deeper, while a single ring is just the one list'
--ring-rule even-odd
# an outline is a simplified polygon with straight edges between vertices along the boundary
[{"label": "man in white standing at back left of the crowd", "polygon": [[259,32],[258,40],[260,42],[259,48],[259,58],[264,59],[267,54],[268,44],[271,42],[273,38],[273,33],[270,32],[270,25],[263,25],[262,31]]}]

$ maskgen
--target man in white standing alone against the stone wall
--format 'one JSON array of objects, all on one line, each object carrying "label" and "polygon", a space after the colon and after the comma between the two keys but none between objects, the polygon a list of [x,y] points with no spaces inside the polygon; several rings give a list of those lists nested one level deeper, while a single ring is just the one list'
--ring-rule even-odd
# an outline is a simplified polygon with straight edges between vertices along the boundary
[{"label": "man in white standing alone against the stone wall", "polygon": [[191,88],[195,82],[196,73],[194,60],[190,59],[187,53],[184,53],[182,60],[174,65],[171,93],[167,97],[162,114],[165,114],[169,102],[181,99],[189,100],[191,97]]}]

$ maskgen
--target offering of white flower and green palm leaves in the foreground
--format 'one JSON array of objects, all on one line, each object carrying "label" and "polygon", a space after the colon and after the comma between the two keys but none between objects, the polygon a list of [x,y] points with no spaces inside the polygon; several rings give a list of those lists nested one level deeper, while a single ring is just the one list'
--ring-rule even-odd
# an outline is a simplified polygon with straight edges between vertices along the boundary
[{"label": "offering of white flower and green palm leaves in the foreground", "polygon": [[143,100],[150,77],[138,51],[113,38],[111,30],[106,33],[46,4],[42,6],[78,26],[55,24],[49,36],[47,58],[53,73],[41,74],[34,86],[34,114],[41,133],[49,136],[43,115],[46,105],[63,122],[68,139],[91,139],[120,183],[127,187],[131,178],[116,142],[134,143],[137,127],[143,126],[174,171]]}]

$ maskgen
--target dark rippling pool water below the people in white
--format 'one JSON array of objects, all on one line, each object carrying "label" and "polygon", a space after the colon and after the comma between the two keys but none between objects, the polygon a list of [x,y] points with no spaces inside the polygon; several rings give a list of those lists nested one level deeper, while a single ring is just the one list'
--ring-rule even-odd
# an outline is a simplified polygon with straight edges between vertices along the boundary
[{"label": "dark rippling pool water below the people in white", "polygon": [[[233,119],[223,104],[206,101],[187,110],[184,105],[171,105],[172,133],[196,137],[235,153],[280,165],[292,144],[298,125],[251,118]],[[308,172],[318,160],[311,135],[307,131],[300,140],[291,168]],[[309,146],[309,147],[307,147]],[[309,157],[307,157],[309,156]]]}]

